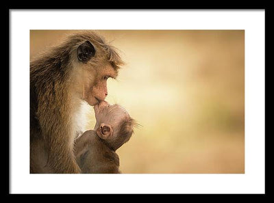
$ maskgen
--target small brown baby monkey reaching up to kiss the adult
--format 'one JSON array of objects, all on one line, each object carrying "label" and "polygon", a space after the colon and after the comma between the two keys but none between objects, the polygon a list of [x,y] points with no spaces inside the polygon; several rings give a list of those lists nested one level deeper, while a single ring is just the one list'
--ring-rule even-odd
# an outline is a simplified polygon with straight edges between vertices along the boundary
[{"label": "small brown baby monkey reaching up to kiss the adult", "polygon": [[76,139],[76,161],[83,174],[120,174],[116,150],[129,141],[136,122],[120,105],[101,101],[94,109],[94,131]]}]

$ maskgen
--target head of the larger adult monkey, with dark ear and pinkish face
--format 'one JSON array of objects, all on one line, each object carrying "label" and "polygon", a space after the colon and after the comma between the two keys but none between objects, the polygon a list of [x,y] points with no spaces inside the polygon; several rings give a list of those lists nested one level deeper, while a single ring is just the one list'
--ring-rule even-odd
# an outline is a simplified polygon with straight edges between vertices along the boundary
[{"label": "head of the larger adult monkey, with dark ear and pinkish face", "polygon": [[[108,95],[108,78],[116,78],[123,61],[115,48],[97,33],[85,31],[71,36],[75,42],[73,66],[80,98],[96,105]],[[75,73],[74,72],[74,73]]]}]

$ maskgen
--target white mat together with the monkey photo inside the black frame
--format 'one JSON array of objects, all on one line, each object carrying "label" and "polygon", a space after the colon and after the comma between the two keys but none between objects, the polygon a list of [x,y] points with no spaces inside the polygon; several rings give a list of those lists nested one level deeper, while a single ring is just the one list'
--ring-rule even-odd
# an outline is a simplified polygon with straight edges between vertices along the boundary
[{"label": "white mat together with the monkey photo inside the black frame", "polygon": [[10,193],[264,193],[264,35],[264,10],[10,10]]}]

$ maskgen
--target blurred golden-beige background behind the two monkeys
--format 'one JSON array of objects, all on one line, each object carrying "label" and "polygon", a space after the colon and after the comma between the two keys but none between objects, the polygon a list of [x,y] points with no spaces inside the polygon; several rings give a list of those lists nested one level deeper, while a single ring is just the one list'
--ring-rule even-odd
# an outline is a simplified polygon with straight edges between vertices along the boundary
[{"label": "blurred golden-beige background behind the two monkeys", "polygon": [[[30,58],[71,32],[30,31]],[[97,32],[126,62],[106,100],[141,125],[117,150],[123,173],[245,173],[245,31]]]}]

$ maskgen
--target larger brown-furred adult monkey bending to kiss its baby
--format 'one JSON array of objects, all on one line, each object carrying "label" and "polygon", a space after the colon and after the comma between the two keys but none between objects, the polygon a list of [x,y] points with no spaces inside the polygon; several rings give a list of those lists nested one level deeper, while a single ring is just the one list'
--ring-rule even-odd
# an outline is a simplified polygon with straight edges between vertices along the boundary
[{"label": "larger brown-furred adult monkey bending to kiss its baby", "polygon": [[73,152],[85,105],[108,95],[123,65],[95,32],[71,34],[30,62],[30,172],[80,173]]}]

